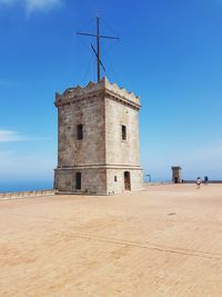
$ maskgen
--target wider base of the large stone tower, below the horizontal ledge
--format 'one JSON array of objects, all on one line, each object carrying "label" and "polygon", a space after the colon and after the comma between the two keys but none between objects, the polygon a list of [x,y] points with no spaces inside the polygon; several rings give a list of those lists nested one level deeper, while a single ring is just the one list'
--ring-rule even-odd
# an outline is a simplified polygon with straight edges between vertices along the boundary
[{"label": "wider base of the large stone tower, below the horizontal ledge", "polygon": [[82,166],[57,168],[54,189],[63,194],[114,195],[142,190],[142,168]]}]

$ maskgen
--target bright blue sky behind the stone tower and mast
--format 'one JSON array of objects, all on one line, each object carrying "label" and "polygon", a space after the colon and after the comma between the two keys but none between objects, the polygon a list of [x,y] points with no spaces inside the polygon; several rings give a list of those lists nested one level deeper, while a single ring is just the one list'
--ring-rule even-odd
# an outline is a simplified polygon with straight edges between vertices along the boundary
[{"label": "bright blue sky behind the stone tower and mast", "polygon": [[54,92],[95,79],[141,96],[141,164],[153,179],[222,179],[222,0],[0,0],[0,180],[52,180]]}]

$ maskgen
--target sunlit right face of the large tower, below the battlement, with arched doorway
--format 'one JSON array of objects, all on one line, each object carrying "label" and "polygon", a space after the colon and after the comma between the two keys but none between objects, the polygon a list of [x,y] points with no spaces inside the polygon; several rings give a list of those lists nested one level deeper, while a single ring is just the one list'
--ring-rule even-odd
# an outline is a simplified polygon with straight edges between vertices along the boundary
[{"label": "sunlit right face of the large tower, below the battlement, with arched doorway", "polygon": [[[125,140],[122,140],[122,126],[127,127]],[[105,98],[105,160],[112,167],[107,171],[108,194],[125,190],[124,171],[130,172],[131,190],[142,189],[139,149],[138,109],[110,97]]]}]

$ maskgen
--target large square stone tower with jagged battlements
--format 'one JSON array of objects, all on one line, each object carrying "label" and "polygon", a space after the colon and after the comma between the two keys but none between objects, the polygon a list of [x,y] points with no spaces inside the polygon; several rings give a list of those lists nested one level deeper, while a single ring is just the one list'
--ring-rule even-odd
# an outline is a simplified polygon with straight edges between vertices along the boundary
[{"label": "large square stone tower with jagged battlements", "polygon": [[142,189],[140,99],[107,78],[56,95],[61,192],[120,194]]}]

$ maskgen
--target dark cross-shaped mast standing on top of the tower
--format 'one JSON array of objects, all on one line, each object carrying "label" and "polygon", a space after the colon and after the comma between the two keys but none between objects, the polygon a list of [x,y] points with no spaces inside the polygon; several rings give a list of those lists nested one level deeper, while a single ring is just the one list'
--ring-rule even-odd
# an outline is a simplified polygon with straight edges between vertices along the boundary
[{"label": "dark cross-shaped mast standing on top of the tower", "polygon": [[97,51],[93,48],[93,46],[91,44],[91,48],[97,57],[97,66],[98,66],[98,82],[100,82],[100,66],[102,66],[103,70],[104,66],[102,65],[101,60],[100,60],[100,38],[107,38],[107,39],[120,39],[119,37],[112,37],[112,36],[101,36],[100,34],[100,17],[97,17],[97,33],[92,34],[92,33],[83,33],[83,32],[77,32],[77,34],[80,36],[91,36],[91,37],[97,37]]}]

